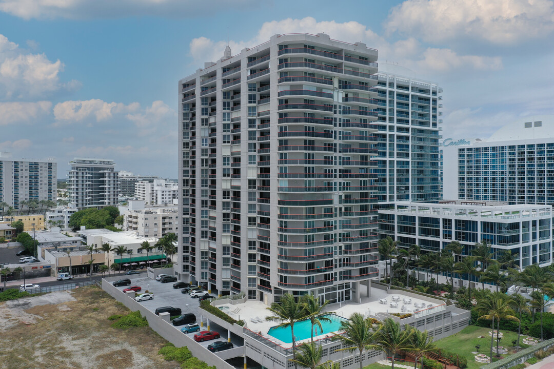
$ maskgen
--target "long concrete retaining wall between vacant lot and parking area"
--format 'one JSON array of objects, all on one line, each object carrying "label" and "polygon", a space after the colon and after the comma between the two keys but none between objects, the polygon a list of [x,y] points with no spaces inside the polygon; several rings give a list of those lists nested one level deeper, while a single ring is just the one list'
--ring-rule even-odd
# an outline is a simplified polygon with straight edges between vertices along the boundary
[{"label": "long concrete retaining wall between vacant lot and parking area", "polygon": [[[166,268],[163,270],[167,271],[168,269]],[[160,273],[157,273],[157,274],[160,274]],[[170,273],[166,273],[166,274],[170,274]],[[111,279],[111,281],[120,279],[120,277],[114,277],[114,278],[109,278],[109,279]],[[206,349],[205,347],[198,345],[198,343],[194,341],[192,337],[182,334],[181,331],[173,328],[173,325],[171,323],[168,323],[167,321],[160,318],[160,316],[157,316],[156,314],[152,313],[152,311],[148,310],[140,303],[137,303],[131,297],[127,296],[124,293],[121,293],[121,291],[116,287],[114,287],[110,283],[110,280],[108,280],[107,278],[102,280],[102,289],[105,290],[111,297],[113,297],[120,303],[124,304],[125,306],[127,306],[127,308],[131,309],[132,311],[140,311],[141,315],[146,317],[146,320],[148,321],[148,325],[150,325],[150,328],[152,328],[154,331],[156,331],[160,336],[162,336],[166,340],[170,341],[176,347],[187,346],[188,349],[191,350],[192,355],[194,357],[197,357],[199,360],[205,361],[208,365],[214,365],[218,369],[235,369],[234,366],[230,365],[222,358],[218,357],[217,355],[214,355],[212,352],[208,351],[208,349]]]}]

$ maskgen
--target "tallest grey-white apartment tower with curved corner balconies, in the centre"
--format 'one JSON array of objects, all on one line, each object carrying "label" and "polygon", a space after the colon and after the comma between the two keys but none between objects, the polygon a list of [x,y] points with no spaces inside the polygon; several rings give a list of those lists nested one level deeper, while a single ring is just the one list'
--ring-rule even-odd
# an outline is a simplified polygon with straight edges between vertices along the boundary
[{"label": "tallest grey-white apartment tower with curved corner balconies, in the centre", "polygon": [[369,289],[376,60],[274,35],[179,81],[179,278],[265,304]]}]

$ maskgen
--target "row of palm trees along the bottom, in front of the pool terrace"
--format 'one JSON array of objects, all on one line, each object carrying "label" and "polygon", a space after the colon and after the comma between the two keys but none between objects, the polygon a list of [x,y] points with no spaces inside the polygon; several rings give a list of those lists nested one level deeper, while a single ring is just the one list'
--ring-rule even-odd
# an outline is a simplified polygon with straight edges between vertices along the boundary
[{"label": "row of palm trees along the bottom, in front of the pool terrace", "polygon": [[[332,361],[321,363],[322,347],[314,342],[314,328],[322,330],[321,322],[330,321],[328,311],[325,307],[329,304],[326,301],[320,304],[319,299],[313,295],[303,295],[296,298],[291,294],[285,294],[279,303],[273,303],[268,308],[271,315],[266,317],[269,321],[278,322],[277,327],[290,327],[293,339],[293,362],[297,365],[310,369],[335,369],[336,364]],[[299,321],[310,320],[311,340],[296,346],[294,325]],[[418,358],[422,359],[425,352],[433,351],[437,347],[432,343],[433,337],[427,331],[421,332],[411,326],[402,330],[399,323],[391,318],[383,323],[373,325],[371,318],[366,318],[360,313],[354,313],[350,319],[341,321],[339,333],[332,337],[332,340],[342,343],[343,348],[348,352],[357,352],[360,356],[360,369],[363,367],[362,354],[367,350],[380,350],[387,352],[391,357],[392,367],[396,355],[412,352],[416,360],[414,369],[417,367]],[[296,352],[296,351],[299,352]]]}]

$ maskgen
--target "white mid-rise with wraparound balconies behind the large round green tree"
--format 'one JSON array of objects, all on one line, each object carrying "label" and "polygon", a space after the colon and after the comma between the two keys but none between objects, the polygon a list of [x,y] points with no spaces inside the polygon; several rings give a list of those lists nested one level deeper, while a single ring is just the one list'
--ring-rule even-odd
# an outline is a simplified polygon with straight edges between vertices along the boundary
[{"label": "white mid-rise with wraparound balconies behind the large round green tree", "polygon": [[114,160],[75,158],[69,165],[70,204],[79,210],[117,205],[119,180]]}]

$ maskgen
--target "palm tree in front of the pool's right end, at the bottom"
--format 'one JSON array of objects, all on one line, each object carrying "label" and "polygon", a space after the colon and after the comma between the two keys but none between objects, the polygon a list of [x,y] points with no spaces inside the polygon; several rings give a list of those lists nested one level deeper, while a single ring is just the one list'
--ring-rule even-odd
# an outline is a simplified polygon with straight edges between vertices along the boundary
[{"label": "palm tree in front of the pool's right end, at the bottom", "polygon": [[341,327],[338,329],[340,333],[333,336],[333,340],[342,342],[342,346],[347,346],[341,350],[348,352],[358,350],[360,353],[360,369],[362,369],[364,350],[382,350],[381,346],[376,344],[379,330],[381,330],[381,327],[376,331],[372,331],[370,318],[363,318],[362,314],[354,313],[350,316],[350,319],[341,321]]}]

